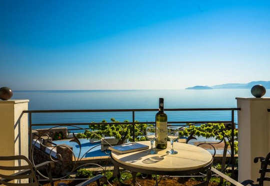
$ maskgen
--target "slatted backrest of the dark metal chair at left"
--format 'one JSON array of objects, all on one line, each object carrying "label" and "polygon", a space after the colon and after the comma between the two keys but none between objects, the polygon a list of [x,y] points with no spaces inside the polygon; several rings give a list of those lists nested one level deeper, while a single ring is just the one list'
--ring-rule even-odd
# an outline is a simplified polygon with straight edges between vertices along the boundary
[{"label": "slatted backrest of the dark metal chair at left", "polygon": [[[27,165],[25,166],[2,166],[4,161],[22,161],[24,160]],[[3,184],[5,186],[38,186],[38,182],[36,179],[35,172],[33,170],[33,166],[31,162],[25,157],[25,156],[6,156],[6,157],[0,157],[0,170],[3,171],[18,171],[17,173],[13,173],[11,175],[3,175],[0,174],[0,184]],[[21,183],[20,181],[23,179],[29,179],[29,183]],[[16,180],[14,183],[9,183],[8,181]]]}]

